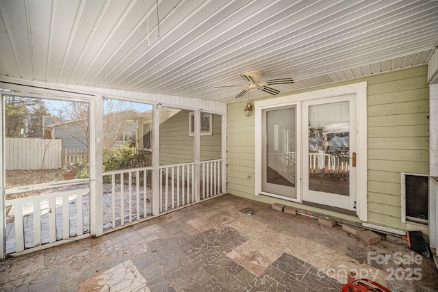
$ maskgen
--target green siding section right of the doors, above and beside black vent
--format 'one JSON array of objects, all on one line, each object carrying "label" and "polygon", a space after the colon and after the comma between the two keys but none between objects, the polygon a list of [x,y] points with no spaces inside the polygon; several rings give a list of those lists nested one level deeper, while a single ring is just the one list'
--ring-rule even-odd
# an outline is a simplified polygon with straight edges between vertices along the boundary
[{"label": "green siding section right of the doors, above and beside black vent", "polygon": [[369,222],[405,229],[400,173],[428,174],[426,69],[389,73],[368,83]]}]

